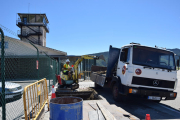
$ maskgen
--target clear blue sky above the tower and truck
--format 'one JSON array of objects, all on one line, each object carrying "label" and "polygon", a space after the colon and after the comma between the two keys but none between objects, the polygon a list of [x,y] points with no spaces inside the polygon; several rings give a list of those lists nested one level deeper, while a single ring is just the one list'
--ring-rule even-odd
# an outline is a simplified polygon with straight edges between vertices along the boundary
[{"label": "clear blue sky above the tower and truck", "polygon": [[28,13],[29,3],[30,13],[48,17],[47,47],[68,55],[130,42],[180,48],[180,0],[1,0],[0,24],[17,32],[16,13]]}]

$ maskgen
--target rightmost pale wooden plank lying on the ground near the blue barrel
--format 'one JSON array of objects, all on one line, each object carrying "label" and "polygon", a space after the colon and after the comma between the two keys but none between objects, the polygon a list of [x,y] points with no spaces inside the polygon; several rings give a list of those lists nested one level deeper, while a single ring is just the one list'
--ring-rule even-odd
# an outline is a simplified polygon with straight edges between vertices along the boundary
[{"label": "rightmost pale wooden plank lying on the ground near the blue barrel", "polygon": [[97,105],[100,108],[106,120],[116,120],[116,118],[99,101],[97,102]]}]

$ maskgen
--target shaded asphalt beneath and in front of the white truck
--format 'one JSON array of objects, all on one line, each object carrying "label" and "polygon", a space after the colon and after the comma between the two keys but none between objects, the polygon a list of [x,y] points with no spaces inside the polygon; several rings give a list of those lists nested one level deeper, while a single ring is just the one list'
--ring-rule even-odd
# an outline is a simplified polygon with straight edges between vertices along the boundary
[{"label": "shaded asphalt beneath and in front of the white truck", "polygon": [[[177,73],[180,81],[180,71]],[[177,98],[160,103],[134,97],[130,98],[129,101],[115,102],[110,89],[103,88],[96,89],[96,91],[106,98],[110,104],[115,104],[140,119],[145,119],[146,114],[150,114],[151,119],[180,119],[180,82],[178,82],[176,89]]]}]

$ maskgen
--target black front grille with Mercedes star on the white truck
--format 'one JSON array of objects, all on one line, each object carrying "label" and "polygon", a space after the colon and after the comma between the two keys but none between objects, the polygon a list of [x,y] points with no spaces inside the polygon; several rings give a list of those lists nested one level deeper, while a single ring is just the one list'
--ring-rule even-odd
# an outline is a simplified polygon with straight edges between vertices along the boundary
[{"label": "black front grille with Mercedes star on the white truck", "polygon": [[175,82],[168,81],[168,80],[151,79],[151,78],[133,76],[132,84],[173,89]]}]

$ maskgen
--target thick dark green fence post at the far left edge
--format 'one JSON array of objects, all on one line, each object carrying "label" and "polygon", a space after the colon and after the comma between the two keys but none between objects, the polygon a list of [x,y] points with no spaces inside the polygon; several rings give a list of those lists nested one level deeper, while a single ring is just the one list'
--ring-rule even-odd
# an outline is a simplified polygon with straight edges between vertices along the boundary
[{"label": "thick dark green fence post at the far left edge", "polygon": [[0,28],[0,32],[1,32],[1,79],[2,79],[1,103],[2,103],[2,120],[6,120],[4,32],[2,31],[1,28]]}]

